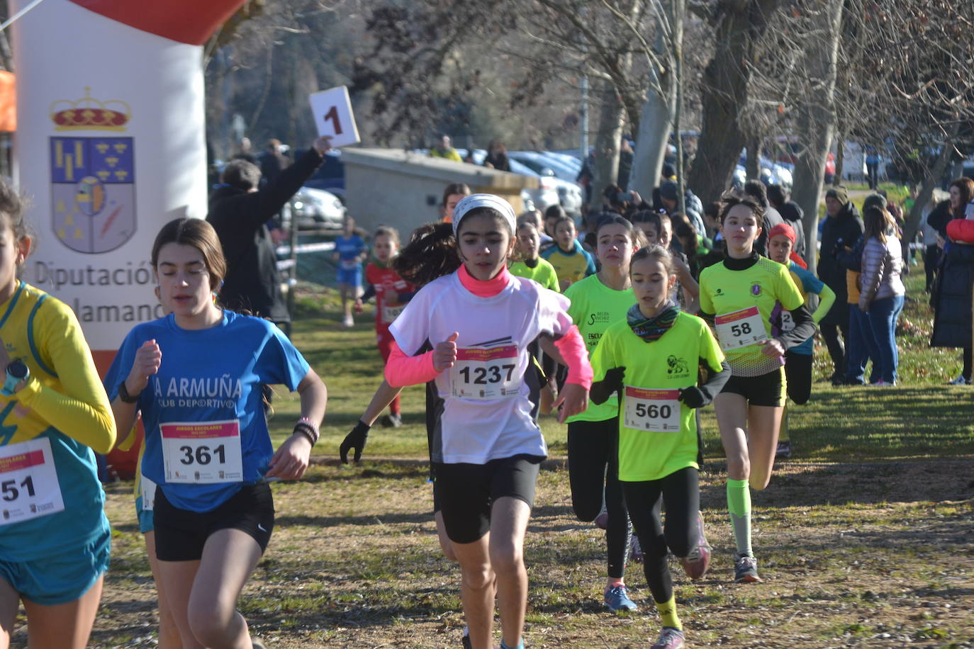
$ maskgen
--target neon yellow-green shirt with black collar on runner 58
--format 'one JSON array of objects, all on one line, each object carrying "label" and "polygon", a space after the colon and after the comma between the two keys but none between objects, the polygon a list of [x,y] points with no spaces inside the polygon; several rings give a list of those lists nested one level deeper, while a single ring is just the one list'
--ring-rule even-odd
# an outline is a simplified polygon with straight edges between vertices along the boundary
[{"label": "neon yellow-green shirt with black collar on runner 58", "polygon": [[[778,369],[784,361],[766,356],[758,343],[731,347],[726,335],[730,326],[722,332],[722,317],[756,307],[759,318],[755,318],[754,322],[760,319],[756,326],[763,326],[764,332],[755,334],[770,338],[770,314],[775,302],[780,302],[787,310],[793,310],[802,306],[805,300],[795,287],[788,269],[767,257],[759,257],[754,266],[745,270],[731,270],[721,263],[700,271],[700,310],[714,314],[717,336],[727,354],[733,376],[760,377]],[[750,323],[744,320],[740,322],[746,324],[748,333],[754,329]]]}]

